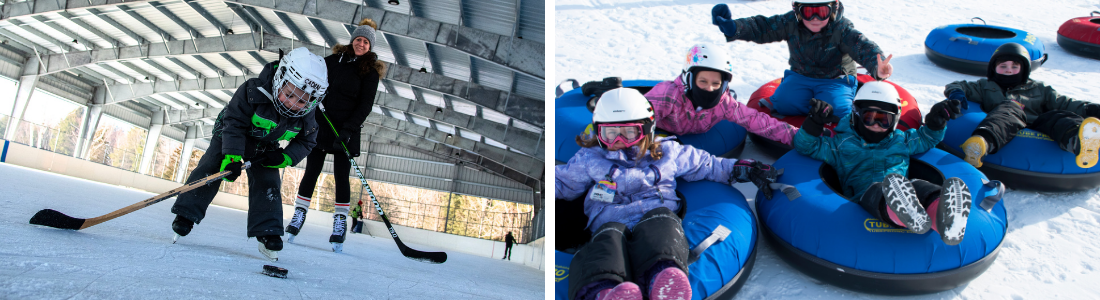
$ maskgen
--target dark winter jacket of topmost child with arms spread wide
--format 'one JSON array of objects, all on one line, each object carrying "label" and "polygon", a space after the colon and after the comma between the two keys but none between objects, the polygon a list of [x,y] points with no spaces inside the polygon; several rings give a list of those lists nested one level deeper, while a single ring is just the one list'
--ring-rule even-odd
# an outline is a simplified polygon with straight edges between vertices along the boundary
[{"label": "dark winter jacket of topmost child with arms spread wide", "polygon": [[[800,75],[832,79],[842,75],[856,75],[856,64],[878,78],[878,55],[882,54],[875,42],[856,30],[851,21],[844,18],[844,5],[836,20],[829,21],[821,32],[811,32],[795,19],[795,12],[772,16],[756,15],[733,20],[737,33],[726,36],[726,42],[743,40],[757,44],[787,41],[791,52],[791,70]],[[855,62],[853,62],[855,58]],[[886,59],[886,56],[882,57]]]}]

